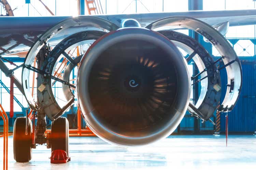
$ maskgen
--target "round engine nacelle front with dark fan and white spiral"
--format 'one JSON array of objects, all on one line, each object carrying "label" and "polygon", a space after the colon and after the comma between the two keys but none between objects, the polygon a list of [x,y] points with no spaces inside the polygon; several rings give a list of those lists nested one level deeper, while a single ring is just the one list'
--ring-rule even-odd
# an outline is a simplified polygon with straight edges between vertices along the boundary
[{"label": "round engine nacelle front with dark fan and white spiral", "polygon": [[165,36],[144,28],[109,32],[84,54],[77,98],[90,129],[119,145],[170,135],[190,98],[187,63]]}]

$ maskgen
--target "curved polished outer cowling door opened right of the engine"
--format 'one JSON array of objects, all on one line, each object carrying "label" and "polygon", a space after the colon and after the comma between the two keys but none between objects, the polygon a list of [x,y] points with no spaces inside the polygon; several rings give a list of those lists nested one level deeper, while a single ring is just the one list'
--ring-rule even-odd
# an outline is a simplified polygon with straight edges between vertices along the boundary
[{"label": "curved polished outer cowling door opened right of the engine", "polygon": [[[236,104],[242,86],[242,68],[241,63],[237,57],[236,52],[228,43],[228,41],[216,29],[209,24],[191,17],[168,17],[155,21],[146,28],[151,30],[166,29],[171,26],[179,26],[196,31],[197,33],[206,37],[212,45],[218,50],[219,54],[223,56],[222,59],[227,70],[227,92],[221,106],[218,108],[221,112],[231,111]],[[208,107],[205,107],[205,112]],[[208,118],[210,117],[208,114]]]}]

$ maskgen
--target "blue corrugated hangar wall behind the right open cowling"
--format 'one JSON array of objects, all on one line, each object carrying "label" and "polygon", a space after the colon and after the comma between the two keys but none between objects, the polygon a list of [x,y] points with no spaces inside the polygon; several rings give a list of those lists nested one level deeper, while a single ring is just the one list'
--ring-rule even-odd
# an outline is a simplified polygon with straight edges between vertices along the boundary
[{"label": "blue corrugated hangar wall behind the right open cowling", "polygon": [[[243,84],[240,98],[229,112],[229,132],[254,132],[256,129],[256,71],[255,62],[242,62]],[[227,73],[221,70],[222,87],[226,87]],[[222,89],[222,100],[226,89]],[[247,96],[247,97],[246,97]],[[221,131],[225,132],[225,113],[221,114]]]}]

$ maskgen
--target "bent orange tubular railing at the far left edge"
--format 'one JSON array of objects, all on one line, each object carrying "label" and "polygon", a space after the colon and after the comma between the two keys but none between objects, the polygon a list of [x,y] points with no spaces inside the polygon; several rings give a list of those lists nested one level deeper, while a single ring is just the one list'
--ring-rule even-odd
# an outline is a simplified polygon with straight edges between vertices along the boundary
[{"label": "bent orange tubular railing at the far left edge", "polygon": [[3,119],[3,170],[8,169],[8,116],[5,113],[2,105],[0,104],[0,116]]}]

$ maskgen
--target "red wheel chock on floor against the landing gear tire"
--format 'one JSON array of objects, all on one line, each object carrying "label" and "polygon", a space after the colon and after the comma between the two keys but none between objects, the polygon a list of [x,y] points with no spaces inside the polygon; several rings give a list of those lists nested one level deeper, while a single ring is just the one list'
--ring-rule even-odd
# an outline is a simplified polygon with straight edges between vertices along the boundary
[{"label": "red wheel chock on floor against the landing gear tire", "polygon": [[63,150],[54,150],[51,156],[52,164],[64,164],[70,161],[67,152]]}]

